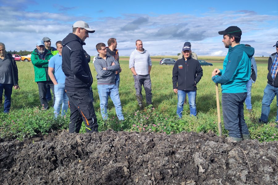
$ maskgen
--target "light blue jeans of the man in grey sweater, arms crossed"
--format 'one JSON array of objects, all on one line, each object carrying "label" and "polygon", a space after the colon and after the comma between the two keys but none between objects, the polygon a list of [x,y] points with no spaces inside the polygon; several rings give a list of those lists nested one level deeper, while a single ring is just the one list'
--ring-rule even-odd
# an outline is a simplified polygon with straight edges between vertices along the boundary
[{"label": "light blue jeans of the man in grey sweater, arms crossed", "polygon": [[107,105],[108,105],[108,96],[110,96],[113,101],[116,109],[116,114],[119,120],[124,120],[124,115],[122,113],[122,105],[120,101],[120,95],[118,88],[115,84],[112,85],[98,85],[99,100],[100,100],[100,109],[103,120],[107,120]]}]

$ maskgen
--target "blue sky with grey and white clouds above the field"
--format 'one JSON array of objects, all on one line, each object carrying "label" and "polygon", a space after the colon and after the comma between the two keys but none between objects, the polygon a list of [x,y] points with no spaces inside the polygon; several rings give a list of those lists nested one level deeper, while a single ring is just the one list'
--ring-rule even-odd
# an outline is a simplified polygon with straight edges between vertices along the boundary
[{"label": "blue sky with grey and white clouds above the field", "polygon": [[0,42],[6,51],[33,51],[43,37],[58,40],[82,20],[89,33],[83,48],[96,56],[97,43],[117,39],[120,56],[129,56],[141,39],[150,55],[177,55],[184,42],[191,42],[197,55],[225,56],[223,31],[229,26],[242,30],[241,44],[255,48],[254,56],[276,52],[278,0],[225,1],[33,1],[0,0]]}]

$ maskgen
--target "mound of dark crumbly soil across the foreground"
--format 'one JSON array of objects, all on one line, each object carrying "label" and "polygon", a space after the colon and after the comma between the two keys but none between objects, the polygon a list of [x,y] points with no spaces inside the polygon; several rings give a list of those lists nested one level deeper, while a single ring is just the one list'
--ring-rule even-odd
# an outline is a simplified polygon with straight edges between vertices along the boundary
[{"label": "mound of dark crumbly soil across the foreground", "polygon": [[66,131],[0,143],[0,184],[277,184],[277,142]]}]

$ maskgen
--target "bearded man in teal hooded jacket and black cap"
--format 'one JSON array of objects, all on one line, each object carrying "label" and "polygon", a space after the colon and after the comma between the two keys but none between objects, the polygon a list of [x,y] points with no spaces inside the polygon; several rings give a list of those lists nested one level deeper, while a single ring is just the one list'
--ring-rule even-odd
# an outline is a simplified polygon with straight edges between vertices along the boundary
[{"label": "bearded man in teal hooded jacket and black cap", "polygon": [[247,96],[246,84],[250,79],[251,60],[254,48],[240,44],[242,31],[230,26],[224,31],[222,42],[229,48],[223,62],[223,69],[214,69],[212,80],[220,83],[222,88],[222,112],[225,129],[235,141],[250,139],[248,127],[244,120],[243,102]]}]

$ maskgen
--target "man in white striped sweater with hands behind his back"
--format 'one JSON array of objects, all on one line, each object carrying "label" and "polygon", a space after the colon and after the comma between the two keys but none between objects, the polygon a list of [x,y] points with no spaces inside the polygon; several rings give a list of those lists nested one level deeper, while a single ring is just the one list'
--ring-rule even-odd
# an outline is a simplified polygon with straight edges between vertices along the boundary
[{"label": "man in white striped sweater with hands behind his back", "polygon": [[152,88],[150,80],[152,61],[150,59],[149,52],[143,48],[142,41],[137,40],[135,43],[136,49],[130,54],[129,68],[133,73],[136,99],[138,101],[140,109],[142,110],[144,109],[142,98],[142,84],[146,92],[147,105],[152,105]]}]

